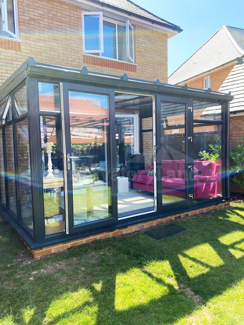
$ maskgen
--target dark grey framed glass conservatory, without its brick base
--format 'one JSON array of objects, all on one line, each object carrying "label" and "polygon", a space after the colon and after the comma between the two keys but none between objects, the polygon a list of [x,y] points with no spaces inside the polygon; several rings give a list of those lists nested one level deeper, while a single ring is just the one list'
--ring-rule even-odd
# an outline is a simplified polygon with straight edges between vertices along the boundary
[{"label": "dark grey framed glass conservatory, without its brick base", "polygon": [[0,212],[38,249],[222,203],[231,99],[30,57],[0,87]]}]

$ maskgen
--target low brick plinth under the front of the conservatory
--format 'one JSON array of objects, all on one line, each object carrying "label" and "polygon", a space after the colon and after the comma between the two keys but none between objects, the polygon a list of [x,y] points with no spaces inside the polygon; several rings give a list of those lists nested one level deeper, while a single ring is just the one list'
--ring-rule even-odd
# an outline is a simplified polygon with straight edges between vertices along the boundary
[{"label": "low brick plinth under the front of the conservatory", "polygon": [[35,249],[35,250],[32,250],[32,253],[33,253],[34,257],[41,257],[41,256],[48,255],[51,253],[56,253],[56,252],[66,250],[67,248],[70,248],[73,246],[87,244],[87,243],[93,242],[95,240],[131,234],[134,232],[142,231],[146,228],[153,227],[155,225],[159,225],[161,223],[166,223],[166,222],[169,222],[172,220],[186,218],[189,216],[194,216],[194,215],[204,213],[204,212],[209,212],[212,210],[224,209],[229,206],[230,206],[229,202],[224,202],[224,203],[220,203],[220,204],[217,204],[214,206],[196,209],[196,210],[184,212],[181,214],[173,214],[168,217],[162,217],[162,218],[155,219],[155,220],[150,220],[150,221],[145,221],[145,222],[141,222],[141,223],[134,224],[134,225],[129,225],[129,226],[126,226],[125,228],[119,228],[119,229],[116,229],[111,232],[96,234],[96,235],[92,235],[92,236],[88,236],[88,237],[84,237],[84,238],[80,238],[80,239],[71,240],[71,241],[68,241],[65,243],[60,243],[60,244],[56,244],[56,245],[52,245],[52,246],[43,247],[40,249]]}]

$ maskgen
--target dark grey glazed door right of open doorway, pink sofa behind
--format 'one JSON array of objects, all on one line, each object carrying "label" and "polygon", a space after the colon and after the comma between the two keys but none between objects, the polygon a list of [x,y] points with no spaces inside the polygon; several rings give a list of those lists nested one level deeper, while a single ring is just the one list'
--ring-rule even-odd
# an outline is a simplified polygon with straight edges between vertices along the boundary
[{"label": "dark grey glazed door right of open doorway, pink sofa behind", "polygon": [[193,202],[192,106],[190,100],[157,96],[158,208],[177,210]]}]

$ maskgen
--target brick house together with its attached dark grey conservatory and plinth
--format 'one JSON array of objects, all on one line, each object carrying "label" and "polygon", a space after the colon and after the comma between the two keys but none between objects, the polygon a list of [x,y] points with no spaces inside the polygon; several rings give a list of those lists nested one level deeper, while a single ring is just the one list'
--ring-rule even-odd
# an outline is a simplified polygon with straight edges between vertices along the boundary
[{"label": "brick house together with its attached dark grey conservatory and plinth", "polygon": [[0,211],[34,256],[229,204],[232,97],[166,83],[177,25],[128,0],[0,17]]}]

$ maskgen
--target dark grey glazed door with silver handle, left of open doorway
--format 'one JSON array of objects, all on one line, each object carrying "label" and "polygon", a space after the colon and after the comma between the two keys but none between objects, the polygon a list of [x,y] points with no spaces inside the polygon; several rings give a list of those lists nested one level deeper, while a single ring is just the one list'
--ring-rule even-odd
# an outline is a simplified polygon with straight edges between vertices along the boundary
[{"label": "dark grey glazed door with silver handle, left of open doorway", "polygon": [[114,92],[64,83],[62,128],[67,233],[116,221]]}]

